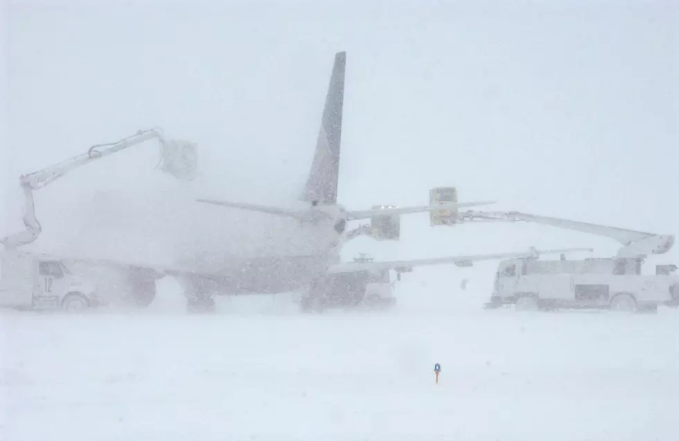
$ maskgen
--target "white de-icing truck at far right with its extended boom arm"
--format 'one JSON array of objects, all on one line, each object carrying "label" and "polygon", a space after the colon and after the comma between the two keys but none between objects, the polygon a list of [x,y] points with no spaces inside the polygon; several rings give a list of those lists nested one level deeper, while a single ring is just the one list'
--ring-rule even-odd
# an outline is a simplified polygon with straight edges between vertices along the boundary
[{"label": "white de-icing truck at far right with its extended boom arm", "polygon": [[[491,216],[488,216],[491,214]],[[504,260],[495,274],[488,307],[513,304],[516,309],[606,308],[655,312],[659,305],[679,306],[676,265],[662,264],[642,274],[649,255],[667,253],[673,235],[659,235],[527,213],[484,213],[487,220],[533,222],[617,240],[615,257],[584,260]]]}]

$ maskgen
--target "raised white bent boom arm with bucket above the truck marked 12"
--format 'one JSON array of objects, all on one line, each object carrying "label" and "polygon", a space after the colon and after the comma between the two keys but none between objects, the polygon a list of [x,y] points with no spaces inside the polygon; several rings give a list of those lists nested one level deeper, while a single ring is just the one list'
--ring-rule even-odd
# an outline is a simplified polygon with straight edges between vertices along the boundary
[{"label": "raised white bent boom arm with bucket above the truck marked 12", "polygon": [[34,242],[42,231],[42,226],[35,217],[35,204],[33,202],[33,190],[42,188],[59,179],[71,170],[82,165],[125,150],[150,139],[156,138],[161,146],[160,168],[163,172],[172,174],[175,178],[183,181],[191,181],[197,171],[196,145],[188,141],[169,141],[164,138],[161,129],[139,130],[136,134],[123,138],[114,143],[93,145],[86,153],[73,156],[51,167],[38,170],[37,172],[24,174],[19,178],[21,188],[24,190],[26,213],[24,214],[25,231],[3,237],[0,243],[7,249],[15,249],[17,246]]}]

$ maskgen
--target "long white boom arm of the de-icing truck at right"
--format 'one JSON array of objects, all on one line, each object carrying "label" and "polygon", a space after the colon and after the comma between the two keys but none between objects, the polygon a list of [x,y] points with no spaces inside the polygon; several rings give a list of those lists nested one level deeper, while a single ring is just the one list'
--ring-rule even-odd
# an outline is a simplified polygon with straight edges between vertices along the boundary
[{"label": "long white boom arm of the de-icing truck at right", "polygon": [[566,228],[569,230],[581,231],[582,233],[610,237],[622,244],[621,248],[617,251],[617,257],[619,258],[645,258],[646,255],[649,254],[664,254],[667,253],[674,244],[673,235],[659,235],[655,233],[646,233],[644,231],[626,230],[625,228],[617,228],[615,226],[590,224],[588,222],[559,219],[557,217],[531,215],[518,211],[468,211],[466,213],[460,213],[460,217],[463,221],[533,222],[535,224],[556,226],[557,228]]}]

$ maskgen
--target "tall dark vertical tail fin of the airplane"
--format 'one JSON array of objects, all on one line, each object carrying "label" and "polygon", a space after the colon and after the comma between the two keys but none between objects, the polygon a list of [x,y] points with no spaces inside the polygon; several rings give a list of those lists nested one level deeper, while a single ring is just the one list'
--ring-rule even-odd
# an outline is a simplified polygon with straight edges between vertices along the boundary
[{"label": "tall dark vertical tail fin of the airplane", "polygon": [[346,52],[336,53],[316,142],[316,151],[304,187],[303,199],[315,201],[318,204],[337,203],[345,66]]}]

